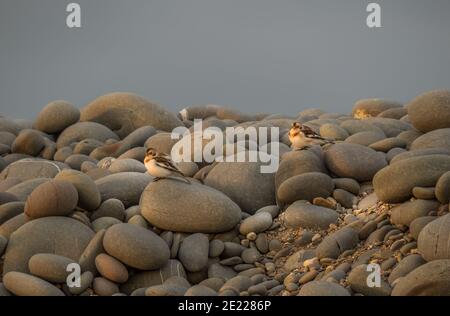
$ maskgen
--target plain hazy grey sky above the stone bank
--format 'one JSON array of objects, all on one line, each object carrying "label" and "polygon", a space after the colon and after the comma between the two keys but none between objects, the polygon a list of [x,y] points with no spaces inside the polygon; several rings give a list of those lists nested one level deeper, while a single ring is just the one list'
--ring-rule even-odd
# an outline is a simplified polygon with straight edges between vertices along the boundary
[{"label": "plain hazy grey sky above the stone bank", "polygon": [[[83,27],[65,25],[78,2]],[[0,114],[33,118],[132,91],[172,110],[348,112],[363,97],[406,102],[450,88],[450,1],[0,0]]]}]

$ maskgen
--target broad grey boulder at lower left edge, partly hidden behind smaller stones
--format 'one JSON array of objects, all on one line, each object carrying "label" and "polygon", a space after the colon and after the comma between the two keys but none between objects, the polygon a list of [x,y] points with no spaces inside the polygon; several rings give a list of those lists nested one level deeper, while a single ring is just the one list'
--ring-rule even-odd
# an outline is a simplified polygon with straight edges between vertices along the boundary
[{"label": "broad grey boulder at lower left edge, partly hidden behind smaller stones", "polygon": [[44,217],[25,223],[10,236],[3,273],[28,273],[28,261],[38,253],[53,253],[78,260],[94,232],[67,217]]}]

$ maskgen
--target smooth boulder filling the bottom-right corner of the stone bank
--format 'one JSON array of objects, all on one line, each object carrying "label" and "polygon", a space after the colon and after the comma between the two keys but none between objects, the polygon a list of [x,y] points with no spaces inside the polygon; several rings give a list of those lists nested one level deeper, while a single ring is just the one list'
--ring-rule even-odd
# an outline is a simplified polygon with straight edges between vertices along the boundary
[{"label": "smooth boulder filling the bottom-right corner of the stone bank", "polygon": [[450,260],[434,260],[401,278],[392,296],[450,296]]}]

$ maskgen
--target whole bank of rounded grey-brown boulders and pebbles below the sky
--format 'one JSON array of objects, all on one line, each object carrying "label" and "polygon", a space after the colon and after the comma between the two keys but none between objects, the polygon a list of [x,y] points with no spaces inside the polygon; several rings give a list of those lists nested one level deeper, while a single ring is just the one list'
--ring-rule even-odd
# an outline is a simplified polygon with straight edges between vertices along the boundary
[{"label": "whole bank of rounded grey-brown boulders and pebbles below the sky", "polygon": [[[170,153],[194,119],[278,127],[278,171],[183,162],[191,184],[153,182],[146,148]],[[335,144],[292,150],[296,121]],[[0,155],[0,296],[450,295],[450,91],[295,117],[54,101],[33,121],[0,117]]]}]

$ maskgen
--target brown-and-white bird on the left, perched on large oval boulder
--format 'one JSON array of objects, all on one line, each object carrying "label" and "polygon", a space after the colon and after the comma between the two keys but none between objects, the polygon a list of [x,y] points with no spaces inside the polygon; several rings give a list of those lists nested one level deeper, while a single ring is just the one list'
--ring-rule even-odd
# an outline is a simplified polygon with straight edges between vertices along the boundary
[{"label": "brown-and-white bird on the left, perched on large oval boulder", "polygon": [[148,148],[145,153],[144,165],[150,175],[154,176],[153,181],[167,178],[182,179],[187,183],[191,183],[186,179],[185,175],[178,169],[169,155],[159,153],[154,148]]}]

